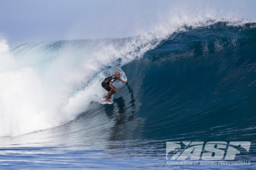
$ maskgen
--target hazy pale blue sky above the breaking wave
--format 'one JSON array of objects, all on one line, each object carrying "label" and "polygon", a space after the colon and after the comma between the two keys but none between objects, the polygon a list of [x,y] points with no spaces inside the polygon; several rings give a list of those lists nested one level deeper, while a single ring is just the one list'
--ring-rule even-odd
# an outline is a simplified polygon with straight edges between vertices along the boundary
[{"label": "hazy pale blue sky above the breaking wave", "polygon": [[130,37],[180,12],[206,10],[256,21],[256,0],[0,0],[0,39],[15,45]]}]

